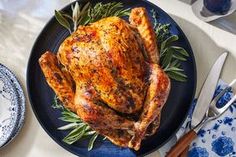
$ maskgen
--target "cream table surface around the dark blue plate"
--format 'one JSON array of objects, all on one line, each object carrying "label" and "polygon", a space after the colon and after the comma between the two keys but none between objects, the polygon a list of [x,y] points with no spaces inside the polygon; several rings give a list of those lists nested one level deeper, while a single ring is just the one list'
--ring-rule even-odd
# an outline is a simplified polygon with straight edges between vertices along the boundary
[{"label": "cream table surface around the dark blue plate", "polygon": [[[236,14],[209,24],[194,15],[189,5],[190,0],[150,1],[169,13],[188,37],[197,64],[197,93],[210,67],[225,50],[230,54],[223,69],[222,79],[230,82],[236,78]],[[0,2],[0,63],[16,74],[26,96],[26,67],[32,45],[46,21],[53,15],[54,9],[60,9],[69,2],[70,0]],[[28,98],[26,107],[24,127],[13,142],[0,149],[0,156],[73,157],[73,154],[56,144],[42,129],[32,112]],[[158,151],[148,155],[154,156],[159,156]]]}]

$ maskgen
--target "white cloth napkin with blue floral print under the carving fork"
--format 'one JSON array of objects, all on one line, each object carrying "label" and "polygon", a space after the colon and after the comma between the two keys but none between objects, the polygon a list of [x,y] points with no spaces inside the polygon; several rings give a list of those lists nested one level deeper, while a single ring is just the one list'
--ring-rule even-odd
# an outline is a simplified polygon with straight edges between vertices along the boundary
[{"label": "white cloth napkin with blue floral print under the carving fork", "polygon": [[[226,87],[227,84],[220,80],[214,96]],[[217,102],[217,107],[224,106],[233,95],[232,90],[226,92]],[[177,137],[189,130],[196,101],[194,100],[189,116],[178,131]],[[198,138],[190,145],[188,157],[236,157],[236,102],[223,115],[209,122],[198,132]]]}]

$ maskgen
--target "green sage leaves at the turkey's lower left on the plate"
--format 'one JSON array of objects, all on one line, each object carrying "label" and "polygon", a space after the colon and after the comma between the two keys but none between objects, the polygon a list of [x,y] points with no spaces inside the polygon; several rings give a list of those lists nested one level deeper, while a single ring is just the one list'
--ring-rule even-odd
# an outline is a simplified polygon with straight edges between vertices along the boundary
[{"label": "green sage leaves at the turkey's lower left on the plate", "polygon": [[60,110],[61,117],[59,119],[68,123],[58,128],[58,130],[70,131],[62,141],[67,144],[73,144],[82,138],[90,138],[88,151],[92,150],[94,142],[98,137],[98,133],[93,131],[91,127],[84,123],[75,113],[64,108],[56,96],[53,99],[52,108]]}]

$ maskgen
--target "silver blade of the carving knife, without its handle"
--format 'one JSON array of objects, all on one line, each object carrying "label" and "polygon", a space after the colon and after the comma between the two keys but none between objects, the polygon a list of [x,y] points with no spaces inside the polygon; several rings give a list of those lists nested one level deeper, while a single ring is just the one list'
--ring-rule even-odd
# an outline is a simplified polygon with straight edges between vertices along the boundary
[{"label": "silver blade of the carving knife, without its handle", "polygon": [[191,128],[194,128],[202,121],[207,109],[209,108],[227,55],[228,52],[224,52],[220,55],[212,66],[207,79],[202,86],[197,104],[193,111]]}]

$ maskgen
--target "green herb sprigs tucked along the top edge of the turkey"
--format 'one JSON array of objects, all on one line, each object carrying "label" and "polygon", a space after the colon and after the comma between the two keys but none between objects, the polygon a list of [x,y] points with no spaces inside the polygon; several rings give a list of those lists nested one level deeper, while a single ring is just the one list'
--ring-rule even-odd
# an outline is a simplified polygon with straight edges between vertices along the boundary
[{"label": "green herb sprigs tucked along the top edge of the turkey", "polygon": [[[87,25],[92,22],[96,22],[105,17],[117,16],[124,17],[130,14],[130,9],[124,9],[123,4],[120,2],[111,3],[97,3],[95,6],[91,6],[88,2],[82,8],[78,2],[71,6],[72,16],[62,11],[55,10],[56,20],[67,30],[70,34],[75,32],[78,25]],[[72,26],[71,24],[72,23]],[[73,27],[73,31],[71,30]]]}]

